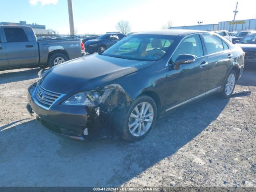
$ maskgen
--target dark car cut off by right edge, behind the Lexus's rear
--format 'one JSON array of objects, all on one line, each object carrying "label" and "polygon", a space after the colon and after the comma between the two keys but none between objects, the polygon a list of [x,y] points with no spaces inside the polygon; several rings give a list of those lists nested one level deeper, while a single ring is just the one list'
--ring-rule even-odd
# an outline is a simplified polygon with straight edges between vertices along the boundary
[{"label": "dark car cut off by right edge, behind the Lexus's rear", "polygon": [[244,36],[237,45],[244,51],[244,66],[256,67],[256,31]]}]

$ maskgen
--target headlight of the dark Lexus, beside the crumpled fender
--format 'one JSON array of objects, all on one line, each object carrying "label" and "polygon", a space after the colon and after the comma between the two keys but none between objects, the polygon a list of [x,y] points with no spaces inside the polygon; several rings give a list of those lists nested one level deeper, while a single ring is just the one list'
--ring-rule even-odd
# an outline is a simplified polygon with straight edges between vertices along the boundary
[{"label": "headlight of the dark Lexus, beside the crumpled fender", "polygon": [[94,107],[100,101],[100,94],[98,92],[80,92],[72,95],[62,104],[64,105],[84,105]]}]

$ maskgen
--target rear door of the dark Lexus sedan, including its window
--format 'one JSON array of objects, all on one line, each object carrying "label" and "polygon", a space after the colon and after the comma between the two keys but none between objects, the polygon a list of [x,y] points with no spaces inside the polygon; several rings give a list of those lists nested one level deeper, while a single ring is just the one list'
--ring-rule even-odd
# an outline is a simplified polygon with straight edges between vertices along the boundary
[{"label": "rear door of the dark Lexus sedan, including its window", "polygon": [[228,67],[234,61],[228,44],[214,34],[202,34],[208,57],[208,80],[206,92],[220,89],[224,84]]}]

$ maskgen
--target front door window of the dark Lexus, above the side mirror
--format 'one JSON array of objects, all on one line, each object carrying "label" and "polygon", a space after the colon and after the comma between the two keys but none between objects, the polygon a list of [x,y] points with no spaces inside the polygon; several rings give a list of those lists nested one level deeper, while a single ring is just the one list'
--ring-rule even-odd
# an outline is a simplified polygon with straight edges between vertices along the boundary
[{"label": "front door window of the dark Lexus, above the side mirror", "polygon": [[176,51],[174,52],[172,56],[172,61],[175,62],[175,60],[178,58],[180,54],[191,54],[195,57],[201,57],[203,56],[203,48],[202,48],[202,42],[200,39],[200,36],[198,34],[188,36],[178,46]]}]

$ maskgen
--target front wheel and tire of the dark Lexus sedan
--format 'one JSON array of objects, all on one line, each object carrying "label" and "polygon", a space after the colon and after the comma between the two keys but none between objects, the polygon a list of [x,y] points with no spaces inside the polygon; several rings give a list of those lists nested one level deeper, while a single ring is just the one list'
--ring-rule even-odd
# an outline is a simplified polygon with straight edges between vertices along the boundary
[{"label": "front wheel and tire of the dark Lexus sedan", "polygon": [[[142,112],[142,105],[144,105],[144,110],[146,110],[146,108],[148,108],[148,110],[140,117],[138,115],[138,112]],[[137,113],[136,108],[138,109]],[[150,116],[143,118],[143,116],[145,115]],[[134,118],[134,116],[136,116],[136,118]],[[156,117],[157,108],[154,100],[147,95],[139,96],[130,104],[130,106],[126,110],[126,113],[118,118],[118,132],[124,140],[136,142],[148,135],[148,133],[150,132],[150,130],[152,130],[152,127],[154,126]]]}]

